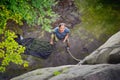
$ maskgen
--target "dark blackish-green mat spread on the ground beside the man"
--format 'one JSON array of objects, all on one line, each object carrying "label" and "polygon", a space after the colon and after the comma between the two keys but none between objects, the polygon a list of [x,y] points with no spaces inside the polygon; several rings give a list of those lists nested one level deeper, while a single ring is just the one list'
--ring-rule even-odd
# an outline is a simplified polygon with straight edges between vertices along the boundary
[{"label": "dark blackish-green mat spread on the ground beside the man", "polygon": [[41,41],[34,38],[27,38],[22,43],[26,46],[25,54],[30,54],[36,57],[48,58],[53,51],[53,46],[48,41]]}]

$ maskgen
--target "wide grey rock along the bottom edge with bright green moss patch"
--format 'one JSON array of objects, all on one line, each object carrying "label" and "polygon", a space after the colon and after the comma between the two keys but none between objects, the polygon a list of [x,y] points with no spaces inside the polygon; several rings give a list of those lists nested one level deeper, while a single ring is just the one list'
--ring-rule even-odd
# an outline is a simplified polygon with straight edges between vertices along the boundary
[{"label": "wide grey rock along the bottom edge with bright green moss patch", "polygon": [[120,64],[67,65],[37,69],[11,80],[120,80]]}]

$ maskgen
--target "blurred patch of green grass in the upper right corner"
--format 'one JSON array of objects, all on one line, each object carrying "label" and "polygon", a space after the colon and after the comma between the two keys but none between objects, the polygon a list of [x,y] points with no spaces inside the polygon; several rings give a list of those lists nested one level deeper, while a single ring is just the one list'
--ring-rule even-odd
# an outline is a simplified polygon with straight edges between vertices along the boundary
[{"label": "blurred patch of green grass in the upper right corner", "polygon": [[96,37],[112,35],[120,30],[120,5],[114,0],[75,0],[81,14],[81,26]]}]

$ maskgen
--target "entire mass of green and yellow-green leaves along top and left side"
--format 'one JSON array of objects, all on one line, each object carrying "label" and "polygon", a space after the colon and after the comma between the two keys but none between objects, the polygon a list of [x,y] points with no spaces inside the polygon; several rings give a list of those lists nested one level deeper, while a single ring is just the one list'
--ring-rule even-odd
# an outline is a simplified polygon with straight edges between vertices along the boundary
[{"label": "entire mass of green and yellow-green leaves along top and left side", "polygon": [[29,26],[39,25],[50,32],[51,23],[57,17],[52,11],[55,4],[54,0],[0,0],[0,71],[5,71],[10,62],[28,66],[21,58],[25,48],[15,42],[14,32],[6,30],[8,20],[18,25],[26,21]]}]

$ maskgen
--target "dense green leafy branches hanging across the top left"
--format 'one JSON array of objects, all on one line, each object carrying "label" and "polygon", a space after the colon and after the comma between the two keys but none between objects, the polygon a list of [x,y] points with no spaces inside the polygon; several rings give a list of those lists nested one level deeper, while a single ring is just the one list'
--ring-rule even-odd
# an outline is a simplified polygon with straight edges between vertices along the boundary
[{"label": "dense green leafy branches hanging across the top left", "polygon": [[6,23],[12,19],[22,25],[22,20],[25,20],[30,26],[40,25],[43,30],[50,32],[51,23],[57,17],[52,11],[55,4],[54,0],[1,0],[0,21]]}]

